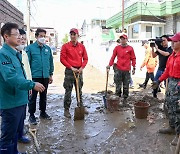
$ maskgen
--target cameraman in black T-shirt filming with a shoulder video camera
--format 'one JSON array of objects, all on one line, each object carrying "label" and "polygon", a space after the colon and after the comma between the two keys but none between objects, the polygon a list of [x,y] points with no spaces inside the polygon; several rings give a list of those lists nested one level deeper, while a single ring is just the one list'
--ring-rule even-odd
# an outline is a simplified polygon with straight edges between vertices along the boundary
[{"label": "cameraman in black T-shirt filming with a shoulder video camera", "polygon": [[[162,36],[161,46],[162,46],[161,49],[157,45],[155,45],[155,47],[151,47],[153,58],[155,58],[156,56],[159,57],[159,67],[156,72],[154,81],[157,81],[159,79],[159,77],[163,74],[163,72],[166,68],[166,62],[168,60],[168,57],[172,53],[172,48],[168,47],[168,36],[167,35]],[[155,98],[157,98],[158,89],[159,89],[159,87],[157,89],[153,89],[153,97],[155,97]]]}]

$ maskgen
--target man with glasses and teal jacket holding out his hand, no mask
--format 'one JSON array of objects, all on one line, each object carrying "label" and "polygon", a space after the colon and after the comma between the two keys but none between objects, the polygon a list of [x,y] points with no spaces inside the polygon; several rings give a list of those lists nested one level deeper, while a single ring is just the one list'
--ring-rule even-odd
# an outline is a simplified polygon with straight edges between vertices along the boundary
[{"label": "man with glasses and teal jacket holding out his hand, no mask", "polygon": [[40,83],[26,80],[21,62],[18,25],[6,23],[1,28],[4,45],[0,49],[0,154],[18,154],[17,137],[24,125],[25,107],[28,103],[28,90],[42,92]]}]

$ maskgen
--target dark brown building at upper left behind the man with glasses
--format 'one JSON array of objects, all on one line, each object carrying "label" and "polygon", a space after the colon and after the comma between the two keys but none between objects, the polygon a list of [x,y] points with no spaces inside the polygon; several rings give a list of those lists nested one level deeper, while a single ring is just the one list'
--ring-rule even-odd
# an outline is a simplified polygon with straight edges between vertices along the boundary
[{"label": "dark brown building at upper left behind the man with glasses", "polygon": [[[0,0],[0,25],[1,27],[6,22],[14,22],[19,25],[20,28],[23,28],[23,13],[15,8],[7,0]],[[0,28],[1,28],[0,27]],[[3,43],[2,37],[0,37],[0,44]]]}]

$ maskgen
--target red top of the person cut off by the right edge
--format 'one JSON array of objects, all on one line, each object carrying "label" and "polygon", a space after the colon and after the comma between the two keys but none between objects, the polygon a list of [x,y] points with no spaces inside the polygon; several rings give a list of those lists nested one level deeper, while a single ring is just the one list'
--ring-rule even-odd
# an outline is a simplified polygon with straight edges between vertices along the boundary
[{"label": "red top of the person cut off by the right edge", "polygon": [[166,69],[159,78],[159,81],[166,80],[167,78],[180,79],[180,51],[176,54],[173,52],[166,63]]}]

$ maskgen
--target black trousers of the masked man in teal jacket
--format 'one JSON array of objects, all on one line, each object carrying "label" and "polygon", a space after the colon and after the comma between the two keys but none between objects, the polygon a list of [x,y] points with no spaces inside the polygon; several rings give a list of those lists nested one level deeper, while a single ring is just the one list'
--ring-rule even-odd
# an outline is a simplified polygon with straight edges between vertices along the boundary
[{"label": "black trousers of the masked man in teal jacket", "polygon": [[[49,78],[33,78],[33,81],[39,82],[39,83],[43,84],[43,86],[45,87],[45,90],[42,93],[40,93],[40,100],[39,100],[39,110],[41,112],[45,112],[46,111],[47,88],[48,88]],[[29,104],[28,104],[28,107],[29,107],[28,112],[30,113],[30,115],[33,115],[36,112],[37,94],[38,94],[37,91],[32,90],[32,96],[31,96]]]}]

